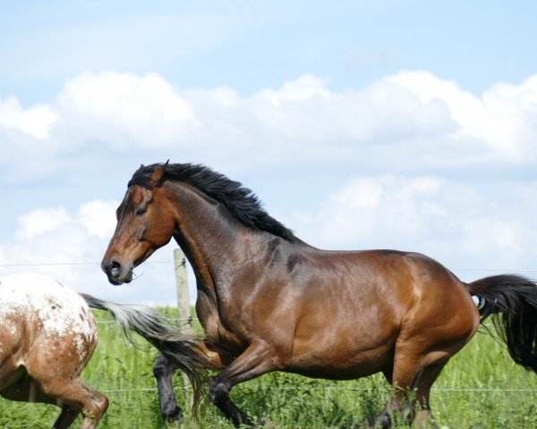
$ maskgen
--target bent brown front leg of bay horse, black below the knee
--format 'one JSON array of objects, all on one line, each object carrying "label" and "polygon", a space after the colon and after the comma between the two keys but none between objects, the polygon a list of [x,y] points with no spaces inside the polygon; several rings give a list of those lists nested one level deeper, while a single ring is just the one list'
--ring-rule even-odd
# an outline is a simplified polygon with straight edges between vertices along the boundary
[{"label": "bent brown front leg of bay horse, black below the knee", "polygon": [[[263,341],[252,342],[243,354],[209,383],[209,399],[231,419],[235,426],[254,426],[251,417],[238,408],[229,397],[229,391],[238,383],[277,369],[273,350]],[[259,422],[262,425],[262,422]]]}]

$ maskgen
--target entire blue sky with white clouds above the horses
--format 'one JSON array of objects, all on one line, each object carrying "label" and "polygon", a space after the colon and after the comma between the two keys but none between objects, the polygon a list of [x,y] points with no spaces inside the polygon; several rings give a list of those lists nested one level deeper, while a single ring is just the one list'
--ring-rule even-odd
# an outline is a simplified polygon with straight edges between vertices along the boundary
[{"label": "entire blue sky with white clouds above the horses", "polygon": [[537,277],[536,15],[490,0],[1,2],[0,274],[173,302],[175,245],[131,285],[98,266],[132,172],[170,159],[242,181],[320,248]]}]

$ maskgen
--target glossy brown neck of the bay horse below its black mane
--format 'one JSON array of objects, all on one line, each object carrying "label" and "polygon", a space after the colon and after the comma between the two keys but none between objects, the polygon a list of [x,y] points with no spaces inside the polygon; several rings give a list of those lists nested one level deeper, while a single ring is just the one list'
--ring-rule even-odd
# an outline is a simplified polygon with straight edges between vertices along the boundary
[{"label": "glossy brown neck of the bay horse below its black mane", "polygon": [[168,200],[175,207],[174,238],[207,286],[214,286],[229,266],[240,265],[243,257],[239,249],[260,246],[259,233],[239,223],[224,206],[198,189],[183,183],[167,189]]}]

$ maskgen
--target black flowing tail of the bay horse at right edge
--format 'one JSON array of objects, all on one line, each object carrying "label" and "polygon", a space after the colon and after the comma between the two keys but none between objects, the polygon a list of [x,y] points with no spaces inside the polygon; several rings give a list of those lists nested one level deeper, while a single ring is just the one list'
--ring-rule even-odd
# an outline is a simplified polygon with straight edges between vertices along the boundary
[{"label": "black flowing tail of the bay horse at right edge", "polygon": [[492,322],[515,362],[537,372],[537,284],[505,274],[469,283],[468,290],[479,299],[482,321],[496,315]]}]

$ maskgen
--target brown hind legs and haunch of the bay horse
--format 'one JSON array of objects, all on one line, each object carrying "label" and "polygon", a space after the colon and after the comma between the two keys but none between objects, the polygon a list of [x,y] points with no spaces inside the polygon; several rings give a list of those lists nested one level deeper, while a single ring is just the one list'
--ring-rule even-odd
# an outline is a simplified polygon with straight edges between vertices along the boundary
[{"label": "brown hind legs and haunch of the bay horse", "polygon": [[479,326],[477,310],[463,285],[447,278],[437,280],[443,281],[416,285],[418,298],[401,324],[393,366],[384,371],[392,386],[390,398],[379,417],[371,420],[371,427],[389,427],[393,412],[417,427],[436,427],[430,387]]}]

